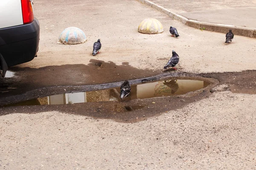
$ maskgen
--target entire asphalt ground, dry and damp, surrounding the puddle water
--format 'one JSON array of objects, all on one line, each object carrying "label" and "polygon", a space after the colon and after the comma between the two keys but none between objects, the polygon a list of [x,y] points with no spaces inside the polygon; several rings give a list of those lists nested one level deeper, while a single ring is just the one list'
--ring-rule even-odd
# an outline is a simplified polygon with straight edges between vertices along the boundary
[{"label": "entire asphalt ground, dry and damp, surrounding the puddle water", "polygon": [[[219,85],[194,96],[140,100],[147,108],[116,115],[106,103],[0,108],[2,169],[255,169],[256,72],[244,71],[256,68],[255,39],[235,35],[225,44],[224,34],[184,26],[135,0],[36,0],[34,11],[41,26],[38,57],[11,68],[14,78],[0,79],[1,91],[17,87],[0,94],[1,102],[46,86],[157,76],[172,49],[180,63],[166,75],[196,74]],[[138,33],[148,17],[160,20],[165,31]],[[87,42],[57,44],[68,26],[84,30]],[[170,26],[180,37],[170,36]],[[93,57],[98,38],[102,50]]]}]

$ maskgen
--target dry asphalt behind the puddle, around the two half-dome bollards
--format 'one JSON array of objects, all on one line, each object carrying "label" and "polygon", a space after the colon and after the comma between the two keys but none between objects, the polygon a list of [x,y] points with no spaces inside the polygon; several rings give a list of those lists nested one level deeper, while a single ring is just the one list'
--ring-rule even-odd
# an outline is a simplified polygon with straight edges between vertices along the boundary
[{"label": "dry asphalt behind the puddle, around the two half-dome bollards", "polygon": [[[184,26],[166,14],[134,0],[124,0],[122,3],[116,3],[115,0],[107,3],[99,0],[79,0],[75,4],[67,0],[65,3],[61,0],[56,0],[54,4],[51,2],[38,0],[34,4],[35,16],[40,20],[41,26],[40,50],[38,57],[17,67],[87,65],[90,59],[99,59],[112,61],[116,65],[129,62],[133,67],[152,69],[153,72],[162,69],[170,59],[172,50],[175,50],[180,56],[178,71],[207,73],[256,68],[254,39],[235,35],[233,42],[227,44],[224,43],[225,34]],[[63,14],[65,6],[69,6],[66,13],[70,15]],[[85,14],[84,10],[88,12]],[[148,17],[159,20],[166,30],[174,26],[180,37],[171,37],[169,31],[140,34],[137,32],[138,26]],[[81,28],[88,37],[87,42],[78,45],[57,44],[59,33],[68,26]],[[102,42],[101,53],[93,57],[93,43],[98,39]]]}]

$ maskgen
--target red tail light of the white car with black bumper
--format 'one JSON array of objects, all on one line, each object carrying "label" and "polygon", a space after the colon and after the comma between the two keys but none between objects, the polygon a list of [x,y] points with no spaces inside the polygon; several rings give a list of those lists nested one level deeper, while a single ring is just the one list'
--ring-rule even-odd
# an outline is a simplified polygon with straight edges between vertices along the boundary
[{"label": "red tail light of the white car with black bumper", "polygon": [[23,23],[31,23],[34,20],[33,8],[31,0],[21,0]]}]

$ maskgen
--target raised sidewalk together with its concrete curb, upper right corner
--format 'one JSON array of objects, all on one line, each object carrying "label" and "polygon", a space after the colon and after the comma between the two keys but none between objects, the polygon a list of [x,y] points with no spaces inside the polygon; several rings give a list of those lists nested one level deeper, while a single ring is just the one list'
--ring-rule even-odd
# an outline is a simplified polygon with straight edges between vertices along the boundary
[{"label": "raised sidewalk together with its concrete curb, upper right corner", "polygon": [[236,35],[256,38],[256,0],[139,1],[194,28],[221,33],[232,28]]}]

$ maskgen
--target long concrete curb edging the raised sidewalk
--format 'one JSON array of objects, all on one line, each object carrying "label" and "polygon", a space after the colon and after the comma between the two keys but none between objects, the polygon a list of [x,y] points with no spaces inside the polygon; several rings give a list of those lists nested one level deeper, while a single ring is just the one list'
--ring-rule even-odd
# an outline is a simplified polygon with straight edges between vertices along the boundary
[{"label": "long concrete curb edging the raised sidewalk", "polygon": [[176,14],[160,5],[152,3],[149,0],[137,0],[137,1],[139,1],[140,3],[144,3],[148,6],[151,6],[152,8],[155,8],[158,11],[163,12],[164,14],[169,15],[173,19],[180,21],[181,23],[185,24],[186,26],[190,26],[190,27],[197,28],[197,29],[205,28],[206,31],[215,31],[215,32],[220,32],[220,33],[224,33],[224,34],[226,34],[228,32],[228,30],[231,28],[232,32],[235,35],[256,38],[256,28],[233,26],[233,25],[218,24],[218,23],[208,23],[208,22],[197,21],[197,20],[189,20],[186,17]]}]

